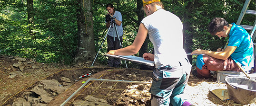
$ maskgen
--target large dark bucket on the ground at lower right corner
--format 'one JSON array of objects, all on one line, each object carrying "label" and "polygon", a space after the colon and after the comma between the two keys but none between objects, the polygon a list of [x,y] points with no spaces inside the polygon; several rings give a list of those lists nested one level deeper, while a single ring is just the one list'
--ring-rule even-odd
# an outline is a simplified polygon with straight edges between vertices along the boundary
[{"label": "large dark bucket on the ground at lower right corner", "polygon": [[239,76],[225,78],[228,96],[239,104],[252,104],[256,102],[256,80]]}]

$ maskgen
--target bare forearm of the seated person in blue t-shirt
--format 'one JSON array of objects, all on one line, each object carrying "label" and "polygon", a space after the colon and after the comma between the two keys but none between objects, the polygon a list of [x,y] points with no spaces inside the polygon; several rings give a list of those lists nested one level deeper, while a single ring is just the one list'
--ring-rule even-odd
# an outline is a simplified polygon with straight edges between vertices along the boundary
[{"label": "bare forearm of the seated person in blue t-shirt", "polygon": [[223,52],[213,52],[213,51],[197,49],[193,51],[191,54],[207,54],[217,59],[226,60],[235,50],[236,50],[236,46],[227,46]]}]

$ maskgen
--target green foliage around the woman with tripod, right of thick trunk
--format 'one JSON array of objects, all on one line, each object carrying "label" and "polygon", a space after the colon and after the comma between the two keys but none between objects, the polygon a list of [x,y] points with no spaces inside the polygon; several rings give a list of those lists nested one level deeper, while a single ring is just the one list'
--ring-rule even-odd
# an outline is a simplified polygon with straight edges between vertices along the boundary
[{"label": "green foliage around the woman with tripod, right of thick trunk", "polygon": [[[104,56],[107,52],[107,38],[104,41],[104,37],[107,34],[107,27],[105,24],[105,15],[108,13],[106,10],[106,5],[112,3],[115,10],[121,12],[123,18],[123,43],[122,46],[126,47],[133,43],[134,38],[137,35],[138,26],[134,19],[137,19],[137,14],[135,13],[136,1],[135,0],[94,0],[92,4],[93,8],[93,28],[95,35],[95,46],[96,52],[98,52],[99,47],[102,45],[101,50],[99,51],[98,60],[102,64],[107,64],[107,57]],[[122,62],[122,65],[125,66],[125,63]]]}]

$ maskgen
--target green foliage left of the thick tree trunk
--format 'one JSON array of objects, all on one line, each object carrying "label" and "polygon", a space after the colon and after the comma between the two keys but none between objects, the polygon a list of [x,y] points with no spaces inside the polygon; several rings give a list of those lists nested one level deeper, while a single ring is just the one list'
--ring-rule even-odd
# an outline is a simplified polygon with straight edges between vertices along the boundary
[{"label": "green foliage left of the thick tree trunk", "polygon": [[1,54],[38,62],[71,63],[77,47],[75,4],[75,1],[34,0],[32,25],[27,21],[25,2],[2,8]]}]

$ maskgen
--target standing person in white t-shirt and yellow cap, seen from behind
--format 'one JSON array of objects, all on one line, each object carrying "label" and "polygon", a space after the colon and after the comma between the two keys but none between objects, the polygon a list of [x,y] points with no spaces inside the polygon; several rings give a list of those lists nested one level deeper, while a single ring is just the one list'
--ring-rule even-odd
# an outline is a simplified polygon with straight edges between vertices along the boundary
[{"label": "standing person in white t-shirt and yellow cap, seen from behind", "polygon": [[147,17],[141,21],[133,44],[107,54],[136,54],[148,35],[154,46],[154,54],[144,53],[143,57],[155,63],[149,90],[151,106],[193,106],[183,94],[191,64],[183,49],[182,22],[175,14],[163,9],[160,0],[142,2]]}]

